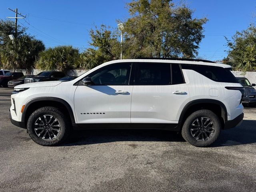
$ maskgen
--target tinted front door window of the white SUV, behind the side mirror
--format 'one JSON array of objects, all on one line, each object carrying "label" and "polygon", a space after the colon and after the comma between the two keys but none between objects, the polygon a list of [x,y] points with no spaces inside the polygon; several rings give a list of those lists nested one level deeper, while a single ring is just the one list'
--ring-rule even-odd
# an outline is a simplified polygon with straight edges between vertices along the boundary
[{"label": "tinted front door window of the white SUV, behind the side mirror", "polygon": [[88,77],[93,85],[128,85],[131,63],[120,63],[106,66],[93,72]]}]

